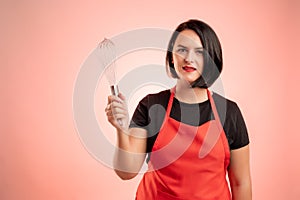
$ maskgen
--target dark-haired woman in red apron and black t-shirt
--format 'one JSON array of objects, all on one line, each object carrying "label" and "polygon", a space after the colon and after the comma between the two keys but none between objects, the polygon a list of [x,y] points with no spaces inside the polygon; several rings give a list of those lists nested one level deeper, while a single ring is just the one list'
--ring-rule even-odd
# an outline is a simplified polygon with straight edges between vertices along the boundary
[{"label": "dark-haired woman in red apron and black t-shirt", "polygon": [[242,114],[236,103],[207,89],[223,67],[212,28],[199,20],[180,24],[169,42],[166,67],[176,86],[144,97],[129,125],[125,97],[108,97],[106,114],[119,147],[117,175],[135,177],[148,153],[149,170],[137,189],[138,200],[251,199]]}]

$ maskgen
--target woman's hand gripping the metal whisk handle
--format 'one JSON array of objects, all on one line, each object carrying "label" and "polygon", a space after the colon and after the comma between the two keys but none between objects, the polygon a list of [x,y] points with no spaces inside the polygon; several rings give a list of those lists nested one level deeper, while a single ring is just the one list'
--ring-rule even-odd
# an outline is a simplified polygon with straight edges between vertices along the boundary
[{"label": "woman's hand gripping the metal whisk handle", "polygon": [[122,93],[119,96],[108,96],[108,103],[105,108],[107,120],[116,129],[127,132],[129,114],[126,104],[126,98]]}]

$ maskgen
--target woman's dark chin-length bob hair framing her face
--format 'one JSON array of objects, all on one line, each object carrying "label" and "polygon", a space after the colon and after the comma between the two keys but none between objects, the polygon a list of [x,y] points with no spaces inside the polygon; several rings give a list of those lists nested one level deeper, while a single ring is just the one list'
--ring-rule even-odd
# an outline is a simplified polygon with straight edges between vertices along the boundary
[{"label": "woman's dark chin-length bob hair framing her face", "polygon": [[214,30],[206,23],[191,19],[180,24],[173,32],[168,45],[166,55],[166,67],[168,74],[173,78],[178,78],[172,63],[172,52],[175,40],[179,33],[184,30],[193,30],[200,38],[204,48],[204,66],[201,76],[192,83],[192,87],[208,88],[219,77],[223,68],[222,49],[220,41]]}]

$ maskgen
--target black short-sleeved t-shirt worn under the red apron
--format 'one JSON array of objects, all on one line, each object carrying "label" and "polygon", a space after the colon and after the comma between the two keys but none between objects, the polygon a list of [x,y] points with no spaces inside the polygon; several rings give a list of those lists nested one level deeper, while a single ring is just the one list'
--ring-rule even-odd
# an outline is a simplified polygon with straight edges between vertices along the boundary
[{"label": "black short-sleeved t-shirt worn under the red apron", "polygon": [[[170,90],[147,95],[139,102],[131,119],[129,127],[139,127],[147,130],[147,153],[151,152],[165,118],[170,95]],[[213,93],[212,97],[230,149],[238,149],[249,144],[246,124],[237,104],[217,93]],[[175,97],[170,117],[192,126],[200,126],[214,119],[209,100],[188,104],[180,102]]]}]

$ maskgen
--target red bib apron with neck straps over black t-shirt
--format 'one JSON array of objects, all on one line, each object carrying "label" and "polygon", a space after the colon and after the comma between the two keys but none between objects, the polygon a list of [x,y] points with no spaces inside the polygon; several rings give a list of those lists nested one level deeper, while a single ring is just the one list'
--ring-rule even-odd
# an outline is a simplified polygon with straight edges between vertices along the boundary
[{"label": "red bib apron with neck straps over black t-shirt", "polygon": [[137,200],[230,200],[228,141],[209,90],[215,120],[191,126],[170,117],[174,88]]}]

